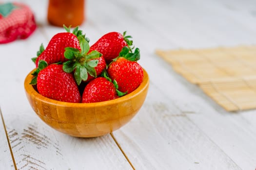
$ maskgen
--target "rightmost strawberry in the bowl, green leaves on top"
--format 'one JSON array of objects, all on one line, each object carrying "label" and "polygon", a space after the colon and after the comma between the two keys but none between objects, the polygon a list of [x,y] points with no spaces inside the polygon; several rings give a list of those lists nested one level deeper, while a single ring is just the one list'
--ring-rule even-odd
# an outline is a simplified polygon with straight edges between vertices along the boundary
[{"label": "rightmost strawberry in the bowl, green leaves on top", "polygon": [[137,63],[140,58],[139,49],[134,53],[129,52],[128,47],[123,47],[119,56],[110,64],[107,69],[108,75],[118,83],[118,90],[131,93],[142,82],[143,69]]}]

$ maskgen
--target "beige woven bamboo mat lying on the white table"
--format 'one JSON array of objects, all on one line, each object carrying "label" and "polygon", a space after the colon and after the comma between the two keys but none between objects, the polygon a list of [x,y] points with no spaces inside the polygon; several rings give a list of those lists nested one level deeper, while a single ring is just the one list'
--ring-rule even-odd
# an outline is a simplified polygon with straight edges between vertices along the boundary
[{"label": "beige woven bamboo mat lying on the white table", "polygon": [[156,53],[227,111],[256,108],[256,46]]}]

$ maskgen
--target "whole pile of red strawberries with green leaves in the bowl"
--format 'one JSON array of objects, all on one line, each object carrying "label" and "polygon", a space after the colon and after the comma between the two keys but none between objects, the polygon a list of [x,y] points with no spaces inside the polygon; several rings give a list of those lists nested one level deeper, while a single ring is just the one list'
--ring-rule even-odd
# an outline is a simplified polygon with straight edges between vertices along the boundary
[{"label": "whole pile of red strawberries with green leaves in the bowl", "polygon": [[55,34],[46,49],[41,45],[32,85],[47,98],[62,102],[103,102],[134,91],[142,82],[139,49],[131,36],[103,35],[91,47],[77,28]]}]

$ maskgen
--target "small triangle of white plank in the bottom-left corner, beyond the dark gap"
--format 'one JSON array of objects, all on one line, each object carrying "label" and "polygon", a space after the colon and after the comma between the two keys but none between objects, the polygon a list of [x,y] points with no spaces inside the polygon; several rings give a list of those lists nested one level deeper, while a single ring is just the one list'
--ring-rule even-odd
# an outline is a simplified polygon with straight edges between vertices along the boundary
[{"label": "small triangle of white plank in the bottom-left corner, beyond the dark gap", "polygon": [[2,119],[2,113],[0,110],[0,168],[15,169],[13,158],[8,144],[8,139],[6,136],[4,121]]}]

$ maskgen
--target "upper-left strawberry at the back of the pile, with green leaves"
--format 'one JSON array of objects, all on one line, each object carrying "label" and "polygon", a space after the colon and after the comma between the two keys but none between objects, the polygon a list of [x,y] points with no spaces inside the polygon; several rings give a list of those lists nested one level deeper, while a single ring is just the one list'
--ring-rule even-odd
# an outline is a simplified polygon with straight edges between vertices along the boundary
[{"label": "upper-left strawberry at the back of the pile, with green leaves", "polygon": [[67,59],[64,57],[66,47],[73,47],[80,50],[78,37],[85,35],[82,35],[82,32],[78,30],[78,27],[74,29],[73,33],[70,33],[70,28],[64,28],[67,32],[55,34],[45,50],[42,45],[40,46],[38,57],[32,58],[32,60],[36,63],[36,67],[38,67],[39,60],[44,60],[49,65],[67,61]]}]

